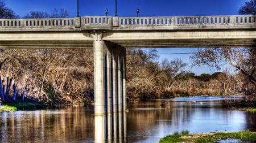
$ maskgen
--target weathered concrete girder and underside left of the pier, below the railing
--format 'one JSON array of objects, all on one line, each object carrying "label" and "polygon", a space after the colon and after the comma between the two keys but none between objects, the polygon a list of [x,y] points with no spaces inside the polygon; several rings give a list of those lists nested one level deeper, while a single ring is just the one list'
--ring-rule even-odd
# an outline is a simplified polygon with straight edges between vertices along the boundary
[{"label": "weathered concrete girder and underside left of the pier, below the railing", "polygon": [[0,49],[10,48],[93,48],[93,41],[81,32],[0,32]]}]

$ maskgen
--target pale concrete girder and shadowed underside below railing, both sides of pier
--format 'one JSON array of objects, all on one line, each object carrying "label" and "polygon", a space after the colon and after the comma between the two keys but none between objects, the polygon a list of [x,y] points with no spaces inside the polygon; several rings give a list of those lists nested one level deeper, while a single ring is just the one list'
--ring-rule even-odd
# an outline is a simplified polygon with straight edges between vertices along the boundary
[{"label": "pale concrete girder and shadowed underside below railing, both sides of pier", "polygon": [[[229,31],[118,31],[102,32],[102,40],[125,48],[140,47],[255,47],[256,32]],[[93,48],[93,31],[0,33],[0,48]]]}]

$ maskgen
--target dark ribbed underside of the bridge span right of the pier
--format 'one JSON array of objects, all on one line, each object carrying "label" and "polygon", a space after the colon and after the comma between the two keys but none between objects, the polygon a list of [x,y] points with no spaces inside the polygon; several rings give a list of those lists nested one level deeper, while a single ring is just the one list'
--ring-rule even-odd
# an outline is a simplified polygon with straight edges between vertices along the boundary
[{"label": "dark ribbed underside of the bridge span right of the pier", "polygon": [[[256,45],[255,39],[181,39],[181,40],[110,40],[115,44],[126,48],[141,47],[253,47]],[[245,46],[246,45],[246,46]]]}]

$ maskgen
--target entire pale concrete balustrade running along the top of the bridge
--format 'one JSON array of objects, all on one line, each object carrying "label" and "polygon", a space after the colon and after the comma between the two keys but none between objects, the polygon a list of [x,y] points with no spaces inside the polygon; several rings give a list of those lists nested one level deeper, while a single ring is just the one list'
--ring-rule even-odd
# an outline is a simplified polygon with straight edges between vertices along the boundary
[{"label": "entire pale concrete balustrade running along the top of the bridge", "polygon": [[117,18],[88,16],[71,19],[0,19],[1,31],[84,31],[256,28],[256,15]]}]

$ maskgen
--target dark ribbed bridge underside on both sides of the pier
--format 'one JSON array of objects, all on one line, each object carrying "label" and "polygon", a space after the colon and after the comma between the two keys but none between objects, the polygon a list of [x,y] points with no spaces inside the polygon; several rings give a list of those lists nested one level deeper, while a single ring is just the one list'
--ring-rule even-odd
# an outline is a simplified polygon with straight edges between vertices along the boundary
[{"label": "dark ribbed bridge underside on both sides of the pier", "polygon": [[[105,40],[125,48],[143,47],[255,47],[254,38],[179,39],[179,40]],[[93,41],[1,41],[1,49],[16,48],[93,48]]]}]

